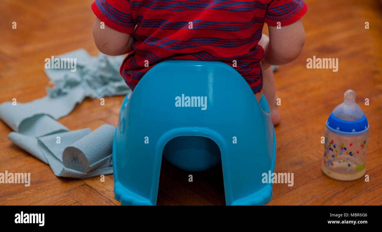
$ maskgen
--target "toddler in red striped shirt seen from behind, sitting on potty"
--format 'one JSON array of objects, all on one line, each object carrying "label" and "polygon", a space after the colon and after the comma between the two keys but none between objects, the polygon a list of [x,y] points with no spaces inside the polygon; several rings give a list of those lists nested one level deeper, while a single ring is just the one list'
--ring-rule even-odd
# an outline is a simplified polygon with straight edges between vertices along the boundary
[{"label": "toddler in red striped shirt seen from behind, sitting on potty", "polygon": [[164,60],[218,60],[243,76],[258,101],[264,92],[272,123],[279,122],[270,65],[300,54],[303,0],[95,0],[91,7],[100,52],[128,54],[120,74],[131,90]]}]

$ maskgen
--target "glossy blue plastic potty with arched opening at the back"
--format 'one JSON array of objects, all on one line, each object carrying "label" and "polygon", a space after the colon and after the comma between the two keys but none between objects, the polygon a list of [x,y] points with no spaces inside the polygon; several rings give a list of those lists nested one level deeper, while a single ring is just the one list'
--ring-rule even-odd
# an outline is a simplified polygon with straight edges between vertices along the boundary
[{"label": "glossy blue plastic potty with arched opening at the back", "polygon": [[257,103],[244,78],[222,62],[155,65],[120,109],[113,169],[121,204],[157,203],[162,155],[190,171],[222,162],[227,205],[268,203],[272,183],[263,174],[274,172],[276,139],[265,97]]}]

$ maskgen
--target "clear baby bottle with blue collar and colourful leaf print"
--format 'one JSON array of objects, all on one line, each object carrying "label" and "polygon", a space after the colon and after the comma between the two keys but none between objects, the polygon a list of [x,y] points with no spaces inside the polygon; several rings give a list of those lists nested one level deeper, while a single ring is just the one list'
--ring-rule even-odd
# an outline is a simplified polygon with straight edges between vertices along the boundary
[{"label": "clear baby bottle with blue collar and colourful leaf print", "polygon": [[330,114],[325,129],[325,150],[322,171],[337,180],[355,180],[366,172],[366,149],[369,124],[361,107],[354,101],[356,93],[349,89],[345,101]]}]

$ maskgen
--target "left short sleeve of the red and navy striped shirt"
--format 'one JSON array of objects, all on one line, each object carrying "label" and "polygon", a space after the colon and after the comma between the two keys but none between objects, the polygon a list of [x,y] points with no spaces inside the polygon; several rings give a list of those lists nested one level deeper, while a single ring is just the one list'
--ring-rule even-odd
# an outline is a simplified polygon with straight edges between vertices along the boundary
[{"label": "left short sleeve of the red and navy striped shirt", "polygon": [[95,16],[109,28],[123,33],[134,32],[130,0],[95,0],[91,7]]}]

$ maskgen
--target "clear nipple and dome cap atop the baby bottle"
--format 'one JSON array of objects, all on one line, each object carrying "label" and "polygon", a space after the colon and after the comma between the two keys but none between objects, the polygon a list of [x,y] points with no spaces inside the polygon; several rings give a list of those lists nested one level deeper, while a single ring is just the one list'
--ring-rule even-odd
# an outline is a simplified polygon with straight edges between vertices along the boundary
[{"label": "clear nipple and dome cap atop the baby bottle", "polygon": [[345,121],[360,120],[364,114],[361,107],[355,102],[356,92],[349,89],[343,95],[345,101],[334,108],[334,117]]}]

